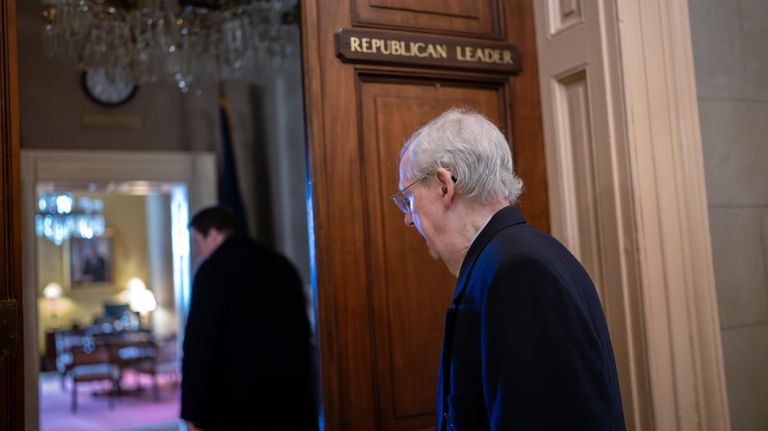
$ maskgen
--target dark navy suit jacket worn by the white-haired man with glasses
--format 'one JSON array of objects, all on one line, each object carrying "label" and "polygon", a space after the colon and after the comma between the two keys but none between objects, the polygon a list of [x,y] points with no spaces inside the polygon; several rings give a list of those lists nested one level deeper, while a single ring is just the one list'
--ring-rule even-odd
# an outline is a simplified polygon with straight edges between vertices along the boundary
[{"label": "dark navy suit jacket worn by the white-haired man with glasses", "polygon": [[592,281],[514,206],[472,243],[446,314],[438,430],[624,430]]}]

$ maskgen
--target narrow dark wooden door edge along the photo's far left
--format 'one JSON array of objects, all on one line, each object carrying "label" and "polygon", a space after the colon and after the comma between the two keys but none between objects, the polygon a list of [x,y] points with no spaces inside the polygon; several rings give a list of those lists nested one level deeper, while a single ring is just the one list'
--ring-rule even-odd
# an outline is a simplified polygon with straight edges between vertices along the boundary
[{"label": "narrow dark wooden door edge along the photo's far left", "polygon": [[24,429],[16,3],[0,3],[0,429]]}]

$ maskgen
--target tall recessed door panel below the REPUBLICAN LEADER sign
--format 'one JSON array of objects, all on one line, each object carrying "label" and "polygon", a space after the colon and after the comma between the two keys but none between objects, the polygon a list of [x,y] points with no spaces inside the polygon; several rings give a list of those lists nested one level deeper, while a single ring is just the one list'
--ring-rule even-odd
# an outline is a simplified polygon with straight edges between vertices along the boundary
[{"label": "tall recessed door panel below the REPUBLICAN LEADER sign", "polygon": [[491,121],[503,118],[502,85],[435,81],[363,81],[360,85],[371,315],[379,411],[384,429],[433,424],[445,310],[456,279],[432,259],[415,229],[389,200],[397,190],[400,149],[420,126],[454,106]]}]

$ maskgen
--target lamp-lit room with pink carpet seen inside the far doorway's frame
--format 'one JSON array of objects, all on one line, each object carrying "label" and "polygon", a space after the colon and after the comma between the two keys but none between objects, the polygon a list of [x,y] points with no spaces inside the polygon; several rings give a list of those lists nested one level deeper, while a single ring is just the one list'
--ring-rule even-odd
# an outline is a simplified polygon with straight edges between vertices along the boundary
[{"label": "lamp-lit room with pink carpet seen inside the far doorway's frame", "polygon": [[[105,225],[65,240],[36,229],[40,429],[175,429],[190,297],[187,185],[47,182],[36,200],[37,216],[58,200],[80,225],[87,216]],[[89,205],[97,208],[78,211]]]}]

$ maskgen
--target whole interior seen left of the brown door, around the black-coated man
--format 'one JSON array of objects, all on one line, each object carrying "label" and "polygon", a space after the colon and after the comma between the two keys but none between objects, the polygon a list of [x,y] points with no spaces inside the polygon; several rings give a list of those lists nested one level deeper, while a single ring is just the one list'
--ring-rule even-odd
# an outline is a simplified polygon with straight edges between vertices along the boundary
[{"label": "whole interior seen left of the brown door, around the black-coated man", "polygon": [[[39,381],[26,397],[39,407],[29,423],[179,429],[179,352],[197,264],[191,214],[228,204],[221,195],[234,190],[250,235],[299,270],[314,314],[297,5],[212,7],[250,39],[197,58],[183,49],[173,57],[168,46],[182,42],[147,29],[146,51],[135,55],[152,60],[128,76],[111,63],[125,53],[89,51],[98,43],[76,32],[108,32],[98,22],[137,13],[169,16],[149,6],[170,4],[43,3],[17,8],[24,283],[37,292],[29,318],[40,358],[30,361]],[[187,14],[189,31],[200,25],[192,9],[170,10]]]}]

